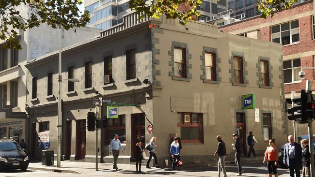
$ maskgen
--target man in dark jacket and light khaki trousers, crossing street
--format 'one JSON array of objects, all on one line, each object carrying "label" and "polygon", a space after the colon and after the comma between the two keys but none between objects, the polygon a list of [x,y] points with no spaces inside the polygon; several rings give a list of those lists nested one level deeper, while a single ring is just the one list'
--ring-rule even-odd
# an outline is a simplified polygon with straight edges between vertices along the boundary
[{"label": "man in dark jacket and light khaki trousers, crossing street", "polygon": [[220,177],[221,169],[223,172],[224,177],[226,176],[226,170],[225,170],[225,158],[226,158],[226,148],[225,143],[223,142],[221,136],[217,136],[218,141],[218,148],[217,151],[214,153],[214,156],[217,154],[219,155],[219,162],[218,162],[218,177]]}]

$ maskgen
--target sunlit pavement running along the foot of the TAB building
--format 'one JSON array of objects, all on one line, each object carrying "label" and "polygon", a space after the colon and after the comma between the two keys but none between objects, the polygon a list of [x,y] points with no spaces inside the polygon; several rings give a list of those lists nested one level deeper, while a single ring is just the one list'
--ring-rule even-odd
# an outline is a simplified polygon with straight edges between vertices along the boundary
[{"label": "sunlit pavement running along the foot of the TAB building", "polygon": [[[262,156],[257,156],[255,158],[242,158],[241,162],[254,162],[254,161],[263,161]],[[225,164],[234,163],[234,159],[228,159],[225,161]],[[93,174],[95,173],[95,163],[91,162],[82,162],[82,161],[62,161],[61,167],[57,168],[57,161],[54,161],[53,166],[43,166],[41,162],[30,162],[28,169],[30,170],[41,170],[41,171],[50,171],[50,172],[59,172],[59,173],[73,173],[73,174]],[[214,161],[203,161],[195,163],[185,163],[183,164],[183,169],[194,169],[207,166],[216,166],[217,162]],[[135,164],[117,164],[119,169],[126,171],[135,171]],[[145,164],[142,163],[142,168],[145,169]],[[100,171],[112,170],[112,163],[98,163],[98,169]],[[158,170],[171,170],[171,166],[165,168],[158,168]]]}]

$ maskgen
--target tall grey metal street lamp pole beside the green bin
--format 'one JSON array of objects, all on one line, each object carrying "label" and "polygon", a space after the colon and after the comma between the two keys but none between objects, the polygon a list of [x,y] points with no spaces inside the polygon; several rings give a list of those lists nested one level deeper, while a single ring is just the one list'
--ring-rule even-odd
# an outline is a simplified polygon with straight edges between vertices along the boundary
[{"label": "tall grey metal street lamp pole beside the green bin", "polygon": [[57,167],[60,167],[61,161],[61,132],[62,132],[62,112],[61,112],[61,41],[62,41],[62,27],[59,26],[59,65],[58,65],[58,124],[57,124]]}]

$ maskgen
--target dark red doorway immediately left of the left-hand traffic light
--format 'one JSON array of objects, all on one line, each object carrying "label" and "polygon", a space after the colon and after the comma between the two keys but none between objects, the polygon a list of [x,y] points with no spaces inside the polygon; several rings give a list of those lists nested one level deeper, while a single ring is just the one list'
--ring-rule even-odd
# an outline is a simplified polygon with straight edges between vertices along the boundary
[{"label": "dark red doorway immediately left of the left-hand traffic light", "polygon": [[86,119],[77,120],[76,160],[84,160],[85,158],[85,121]]}]

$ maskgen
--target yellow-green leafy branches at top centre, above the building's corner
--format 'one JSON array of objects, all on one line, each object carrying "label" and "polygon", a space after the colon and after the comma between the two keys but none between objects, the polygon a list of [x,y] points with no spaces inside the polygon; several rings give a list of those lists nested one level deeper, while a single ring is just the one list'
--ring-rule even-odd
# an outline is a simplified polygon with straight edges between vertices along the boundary
[{"label": "yellow-green leafy branches at top centre, above the building's corner", "polygon": [[[165,14],[167,19],[179,19],[179,24],[186,25],[189,21],[194,21],[200,13],[197,6],[201,0],[130,0],[129,8],[138,12],[143,12],[153,18],[159,18]],[[142,15],[142,18],[144,15]]]}]

